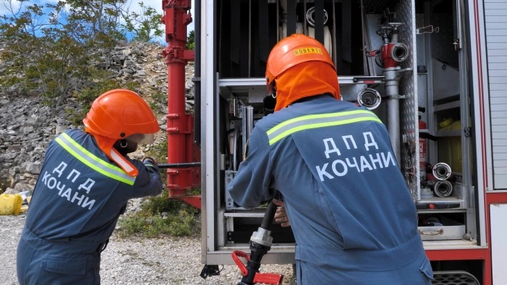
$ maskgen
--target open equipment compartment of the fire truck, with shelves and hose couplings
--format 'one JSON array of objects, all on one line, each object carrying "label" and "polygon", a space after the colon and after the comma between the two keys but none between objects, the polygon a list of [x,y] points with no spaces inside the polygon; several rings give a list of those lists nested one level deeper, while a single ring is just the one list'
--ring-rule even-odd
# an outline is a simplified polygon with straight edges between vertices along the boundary
[{"label": "open equipment compartment of the fire truck, with shelves and hose couplings", "polygon": [[[274,44],[305,33],[329,51],[342,99],[385,123],[419,214],[426,250],[479,248],[469,41],[462,1],[217,0],[200,15],[203,263],[249,250],[265,207],[242,209],[227,184],[256,121],[273,108],[265,67]],[[213,78],[213,79],[212,79]],[[396,199],[396,197],[392,197]],[[290,228],[274,225],[266,264],[294,262]]]}]

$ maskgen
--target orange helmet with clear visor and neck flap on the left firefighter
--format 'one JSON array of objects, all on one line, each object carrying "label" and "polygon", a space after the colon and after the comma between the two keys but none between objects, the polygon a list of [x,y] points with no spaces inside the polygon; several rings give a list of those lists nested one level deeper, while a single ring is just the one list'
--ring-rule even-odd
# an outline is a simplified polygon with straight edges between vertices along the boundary
[{"label": "orange helmet with clear visor and neck flap on the left firefighter", "polygon": [[83,123],[99,148],[132,176],[138,174],[137,169],[113,145],[118,139],[153,144],[153,134],[160,130],[149,105],[127,89],[113,89],[95,99]]}]

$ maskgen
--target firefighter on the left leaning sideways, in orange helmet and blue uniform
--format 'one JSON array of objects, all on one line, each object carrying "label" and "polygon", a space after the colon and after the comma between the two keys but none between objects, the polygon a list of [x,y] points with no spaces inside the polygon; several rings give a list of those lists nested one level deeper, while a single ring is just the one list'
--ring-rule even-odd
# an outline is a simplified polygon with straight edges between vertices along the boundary
[{"label": "firefighter on the left leaning sideways, in orange helmet and blue uniform", "polygon": [[102,94],[83,123],[47,148],[17,248],[21,285],[100,284],[100,254],[127,201],[162,191],[153,159],[126,156],[159,130],[138,94]]}]

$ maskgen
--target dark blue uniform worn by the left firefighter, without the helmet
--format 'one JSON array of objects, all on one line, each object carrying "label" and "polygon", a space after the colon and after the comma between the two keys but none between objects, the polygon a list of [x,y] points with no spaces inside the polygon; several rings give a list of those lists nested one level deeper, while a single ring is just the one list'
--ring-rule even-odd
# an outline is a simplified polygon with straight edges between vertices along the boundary
[{"label": "dark blue uniform worn by the left firefighter, without the helmet", "polygon": [[51,141],[18,245],[19,284],[100,284],[100,252],[126,203],[162,191],[158,166],[128,160],[135,178],[86,132]]}]

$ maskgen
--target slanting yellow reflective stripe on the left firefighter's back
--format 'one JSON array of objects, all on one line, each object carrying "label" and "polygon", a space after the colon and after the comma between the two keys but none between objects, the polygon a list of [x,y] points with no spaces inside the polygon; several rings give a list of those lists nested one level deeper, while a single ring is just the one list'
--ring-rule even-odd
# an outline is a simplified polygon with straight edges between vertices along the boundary
[{"label": "slanting yellow reflective stripe on the left firefighter's back", "polygon": [[83,146],[74,141],[74,139],[69,137],[69,135],[63,133],[60,136],[56,137],[55,140],[72,156],[76,157],[76,159],[78,159],[80,162],[83,162],[83,164],[90,167],[94,171],[106,175],[108,178],[113,178],[114,180],[124,182],[128,185],[134,184],[135,178],[125,173],[123,169],[105,162],[103,159],[100,159],[93,153],[90,153],[90,151],[88,151],[86,148],[83,148]]}]

